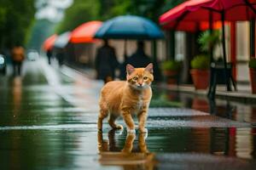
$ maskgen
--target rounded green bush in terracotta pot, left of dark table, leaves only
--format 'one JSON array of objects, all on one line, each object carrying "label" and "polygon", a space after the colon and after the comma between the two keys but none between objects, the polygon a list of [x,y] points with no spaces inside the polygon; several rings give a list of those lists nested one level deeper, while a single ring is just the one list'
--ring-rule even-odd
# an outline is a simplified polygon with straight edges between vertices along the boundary
[{"label": "rounded green bush in terracotta pot, left of dark table, leaves only", "polygon": [[197,55],[191,60],[192,69],[205,70],[210,68],[210,59],[207,55]]}]

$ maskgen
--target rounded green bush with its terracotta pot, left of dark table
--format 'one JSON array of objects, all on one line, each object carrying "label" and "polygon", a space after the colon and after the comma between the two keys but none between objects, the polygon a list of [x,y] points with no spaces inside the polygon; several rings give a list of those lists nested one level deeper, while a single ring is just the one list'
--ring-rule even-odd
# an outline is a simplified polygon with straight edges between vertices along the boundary
[{"label": "rounded green bush with its terracotta pot, left of dark table", "polygon": [[195,89],[207,89],[209,86],[210,59],[207,55],[201,54],[191,60],[190,74]]}]

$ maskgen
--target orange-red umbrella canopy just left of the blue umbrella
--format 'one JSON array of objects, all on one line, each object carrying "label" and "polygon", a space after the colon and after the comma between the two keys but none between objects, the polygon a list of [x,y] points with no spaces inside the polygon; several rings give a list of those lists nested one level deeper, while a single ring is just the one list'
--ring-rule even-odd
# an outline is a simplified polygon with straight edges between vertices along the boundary
[{"label": "orange-red umbrella canopy just left of the blue umbrella", "polygon": [[95,42],[96,31],[102,26],[101,21],[90,21],[75,28],[70,36],[70,42],[82,43],[82,42]]}]

